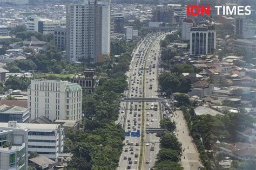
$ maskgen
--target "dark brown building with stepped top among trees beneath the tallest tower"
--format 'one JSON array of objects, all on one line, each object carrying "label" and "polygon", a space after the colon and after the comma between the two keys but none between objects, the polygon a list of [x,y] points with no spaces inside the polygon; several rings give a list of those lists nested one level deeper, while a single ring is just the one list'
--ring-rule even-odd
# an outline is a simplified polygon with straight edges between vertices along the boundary
[{"label": "dark brown building with stepped top among trees beneath the tallest tower", "polygon": [[87,93],[93,93],[95,87],[98,86],[97,76],[95,69],[85,69],[84,74],[76,74],[71,78],[71,82],[79,84]]}]

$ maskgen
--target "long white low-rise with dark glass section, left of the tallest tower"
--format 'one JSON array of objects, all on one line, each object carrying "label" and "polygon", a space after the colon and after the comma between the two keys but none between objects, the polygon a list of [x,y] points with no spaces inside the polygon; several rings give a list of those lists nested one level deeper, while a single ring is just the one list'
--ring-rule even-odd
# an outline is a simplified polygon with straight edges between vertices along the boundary
[{"label": "long white low-rise with dark glass section, left of the tallest tower", "polygon": [[52,20],[48,18],[31,18],[26,21],[26,29],[43,34],[54,33],[57,26],[65,26],[66,20]]}]

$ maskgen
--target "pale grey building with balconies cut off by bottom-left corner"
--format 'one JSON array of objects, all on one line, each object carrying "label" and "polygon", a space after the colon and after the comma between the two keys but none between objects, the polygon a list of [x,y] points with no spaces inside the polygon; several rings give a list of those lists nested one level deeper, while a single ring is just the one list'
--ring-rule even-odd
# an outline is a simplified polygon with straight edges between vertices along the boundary
[{"label": "pale grey building with balconies cut off by bottom-left corner", "polygon": [[28,169],[28,130],[0,123],[0,169]]}]

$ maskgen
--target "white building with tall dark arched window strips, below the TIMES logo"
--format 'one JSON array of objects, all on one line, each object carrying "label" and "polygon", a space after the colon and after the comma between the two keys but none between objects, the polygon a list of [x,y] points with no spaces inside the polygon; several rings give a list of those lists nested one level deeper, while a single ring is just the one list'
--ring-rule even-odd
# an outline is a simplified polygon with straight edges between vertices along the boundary
[{"label": "white building with tall dark arched window strips, below the TIMES logo", "polygon": [[213,54],[216,32],[211,27],[191,27],[190,55]]}]

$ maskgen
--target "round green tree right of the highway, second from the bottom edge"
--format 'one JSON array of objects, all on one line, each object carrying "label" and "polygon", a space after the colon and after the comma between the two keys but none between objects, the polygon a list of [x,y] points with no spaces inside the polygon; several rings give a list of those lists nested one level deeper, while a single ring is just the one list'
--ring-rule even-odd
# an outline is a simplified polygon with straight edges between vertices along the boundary
[{"label": "round green tree right of the highway, second from the bottom edge", "polygon": [[157,162],[166,161],[166,160],[169,160],[172,162],[179,162],[180,153],[170,148],[161,148],[157,154]]}]

